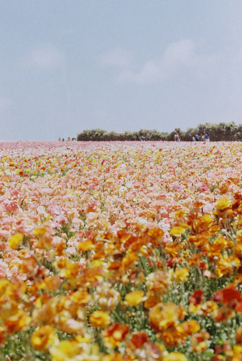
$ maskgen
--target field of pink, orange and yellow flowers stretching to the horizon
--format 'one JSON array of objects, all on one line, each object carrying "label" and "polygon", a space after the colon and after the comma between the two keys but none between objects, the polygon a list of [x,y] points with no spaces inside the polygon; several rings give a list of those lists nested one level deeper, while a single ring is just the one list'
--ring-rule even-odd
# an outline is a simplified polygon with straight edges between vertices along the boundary
[{"label": "field of pink, orange and yellow flowers stretching to the horizon", "polygon": [[0,143],[0,361],[242,360],[242,143]]}]

